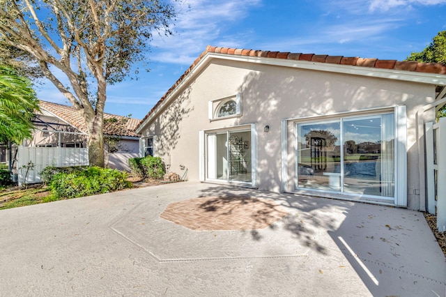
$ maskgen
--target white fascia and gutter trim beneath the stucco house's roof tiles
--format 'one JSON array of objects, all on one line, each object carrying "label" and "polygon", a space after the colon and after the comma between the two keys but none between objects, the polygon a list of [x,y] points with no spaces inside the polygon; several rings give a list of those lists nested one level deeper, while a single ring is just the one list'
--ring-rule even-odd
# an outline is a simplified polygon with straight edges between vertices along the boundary
[{"label": "white fascia and gutter trim beneath the stucco house's roof tiles", "polygon": [[383,79],[395,79],[405,82],[417,82],[420,84],[435,84],[438,86],[446,86],[446,75],[439,75],[436,73],[419,73],[415,71],[405,71],[405,70],[394,70],[394,69],[383,69],[383,68],[369,68],[362,66],[351,66],[351,65],[341,65],[332,63],[319,63],[312,61],[298,61],[291,59],[277,59],[277,58],[266,58],[259,56],[243,56],[243,55],[233,55],[233,54],[218,54],[214,52],[208,52],[202,59],[197,63],[190,73],[179,82],[178,86],[169,93],[167,98],[160,103],[158,107],[144,120],[143,123],[136,130],[137,134],[141,134],[142,130],[152,121],[157,114],[164,109],[165,106],[173,100],[176,95],[183,89],[185,85],[188,84],[189,80],[192,79],[201,69],[206,66],[212,59],[224,59],[231,61],[241,61],[247,63],[260,63],[264,65],[271,66],[283,66],[289,68],[305,69],[305,70],[318,70],[326,71],[331,73],[341,73],[348,75],[362,75],[366,77],[375,77]]}]

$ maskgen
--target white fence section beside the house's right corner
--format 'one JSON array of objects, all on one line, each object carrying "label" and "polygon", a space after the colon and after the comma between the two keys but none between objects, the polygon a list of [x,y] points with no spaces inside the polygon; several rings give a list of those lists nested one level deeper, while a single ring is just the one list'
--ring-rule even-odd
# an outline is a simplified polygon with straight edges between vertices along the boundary
[{"label": "white fence section beside the house's right corner", "polygon": [[439,232],[446,231],[446,118],[426,123],[427,210],[437,216]]}]

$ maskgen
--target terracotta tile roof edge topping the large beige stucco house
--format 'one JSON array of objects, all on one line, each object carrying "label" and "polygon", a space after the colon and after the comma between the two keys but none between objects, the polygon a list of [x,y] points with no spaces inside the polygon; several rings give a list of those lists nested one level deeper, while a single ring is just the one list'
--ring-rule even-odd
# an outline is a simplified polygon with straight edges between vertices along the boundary
[{"label": "terracotta tile roof edge topping the large beige stucco house", "polygon": [[[194,69],[199,61],[208,53],[217,54],[228,54],[228,55],[240,55],[240,56],[258,56],[266,57],[272,59],[287,59],[287,60],[298,60],[298,61],[312,61],[316,63],[330,63],[330,64],[340,64],[348,66],[357,67],[368,67],[368,68],[380,68],[380,69],[393,69],[393,70],[403,70],[403,71],[413,71],[418,73],[434,73],[446,75],[446,64],[443,63],[420,63],[415,61],[397,61],[397,60],[378,60],[378,59],[364,59],[357,56],[329,56],[326,54],[302,54],[302,53],[292,53],[292,52],[270,52],[263,50],[245,50],[245,49],[235,49],[229,47],[214,47],[208,45],[206,50],[202,52],[199,57],[192,63],[192,65],[187,68],[185,73],[175,82],[173,86],[162,96],[162,98],[153,106],[150,112],[144,116],[139,125],[142,125],[144,121],[150,116],[158,106],[170,95],[172,91],[183,82],[183,79]],[[137,128],[139,128],[139,125]]]}]

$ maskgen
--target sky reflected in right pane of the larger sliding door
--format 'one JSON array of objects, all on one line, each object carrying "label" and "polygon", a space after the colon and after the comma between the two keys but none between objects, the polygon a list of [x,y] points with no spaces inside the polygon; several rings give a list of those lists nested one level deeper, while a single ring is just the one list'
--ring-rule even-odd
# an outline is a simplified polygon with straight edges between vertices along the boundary
[{"label": "sky reflected in right pane of the larger sliding door", "polygon": [[354,140],[357,144],[379,142],[381,140],[380,118],[344,121],[344,142],[348,140]]}]

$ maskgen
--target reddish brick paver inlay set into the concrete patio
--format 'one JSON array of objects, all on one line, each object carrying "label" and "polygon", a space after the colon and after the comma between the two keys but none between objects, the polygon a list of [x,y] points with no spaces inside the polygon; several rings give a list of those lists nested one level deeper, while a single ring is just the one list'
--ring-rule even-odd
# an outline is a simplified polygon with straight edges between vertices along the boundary
[{"label": "reddish brick paver inlay set into the concrete patio", "polygon": [[161,218],[196,231],[263,229],[288,213],[275,201],[252,197],[199,197],[169,204]]}]

